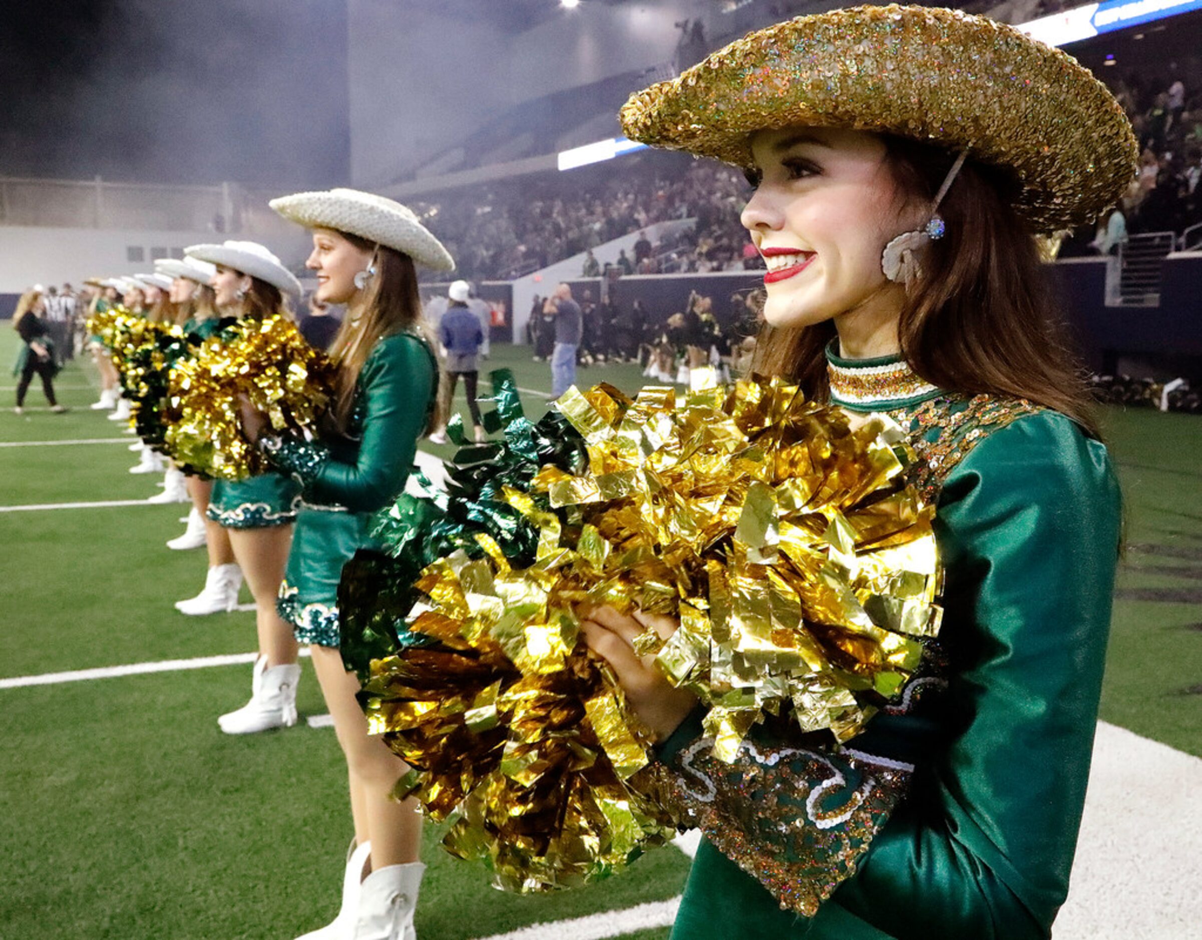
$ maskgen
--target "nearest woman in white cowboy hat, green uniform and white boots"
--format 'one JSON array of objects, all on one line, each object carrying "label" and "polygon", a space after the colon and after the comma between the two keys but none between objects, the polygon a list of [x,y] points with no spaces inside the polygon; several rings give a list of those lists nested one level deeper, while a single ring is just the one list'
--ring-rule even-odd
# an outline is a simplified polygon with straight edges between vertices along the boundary
[{"label": "nearest woman in white cowboy hat, green uniform and white boots", "polygon": [[[334,404],[316,440],[266,436],[272,462],[303,487],[279,609],[309,643],[350,778],[355,850],[343,906],[308,938],[411,940],[423,865],[416,801],[391,792],[407,767],[369,733],[358,679],[339,653],[338,582],[343,565],[374,545],[370,517],[405,488],[417,440],[436,427],[439,363],[422,325],[415,262],[451,270],[442,244],[407,208],[356,190],[302,192],[272,208],[313,232],[307,266],[316,299],[346,304],[331,355],[338,363]],[[261,415],[243,415],[248,436]]]}]

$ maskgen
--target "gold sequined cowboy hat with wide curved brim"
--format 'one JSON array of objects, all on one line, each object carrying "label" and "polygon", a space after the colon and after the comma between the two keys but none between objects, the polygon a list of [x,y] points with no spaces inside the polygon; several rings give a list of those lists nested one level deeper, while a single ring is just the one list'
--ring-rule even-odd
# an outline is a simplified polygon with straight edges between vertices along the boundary
[{"label": "gold sequined cowboy hat with wide curved brim", "polygon": [[632,141],[750,168],[751,135],[795,125],[927,141],[1005,167],[1033,233],[1094,221],[1135,179],[1114,96],[1061,52],[959,10],[857,6],[798,17],[630,97]]}]

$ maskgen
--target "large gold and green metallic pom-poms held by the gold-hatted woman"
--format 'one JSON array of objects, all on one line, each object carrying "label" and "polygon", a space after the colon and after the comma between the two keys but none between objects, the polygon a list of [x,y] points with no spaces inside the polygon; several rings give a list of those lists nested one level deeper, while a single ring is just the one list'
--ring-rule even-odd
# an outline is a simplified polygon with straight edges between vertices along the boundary
[{"label": "large gold and green metallic pom-poms held by the gold-hatted woman", "polygon": [[679,619],[639,652],[702,700],[719,760],[768,716],[846,742],[918,667],[941,566],[888,418],[780,381],[573,388],[538,426],[506,409],[505,442],[460,452],[450,496],[381,514],[393,559],[357,558],[339,596],[371,727],[415,768],[398,796],[500,886],[608,874],[673,822],[582,605]]}]

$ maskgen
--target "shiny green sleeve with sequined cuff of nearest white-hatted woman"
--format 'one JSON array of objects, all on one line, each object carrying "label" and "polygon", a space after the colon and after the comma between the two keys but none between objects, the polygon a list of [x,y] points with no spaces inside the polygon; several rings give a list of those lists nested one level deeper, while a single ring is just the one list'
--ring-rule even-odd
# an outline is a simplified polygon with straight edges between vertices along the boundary
[{"label": "shiny green sleeve with sequined cuff of nearest white-hatted woman", "polygon": [[374,512],[404,489],[435,381],[434,357],[419,339],[380,340],[359,374],[363,435],[353,464],[320,442],[285,441],[272,460],[298,477],[305,499]]}]

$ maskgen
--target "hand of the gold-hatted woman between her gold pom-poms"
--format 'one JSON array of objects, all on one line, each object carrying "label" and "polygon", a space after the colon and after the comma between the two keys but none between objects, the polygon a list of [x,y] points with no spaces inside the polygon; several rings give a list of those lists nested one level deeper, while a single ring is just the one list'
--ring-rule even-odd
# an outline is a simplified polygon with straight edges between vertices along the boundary
[{"label": "hand of the gold-hatted woman between her gold pom-poms", "polygon": [[668,639],[680,624],[642,611],[627,617],[613,607],[590,607],[579,613],[584,642],[613,667],[626,701],[655,732],[656,743],[666,740],[697,704],[697,696],[672,685],[655,667],[655,656],[637,655],[633,643],[644,630]]}]

